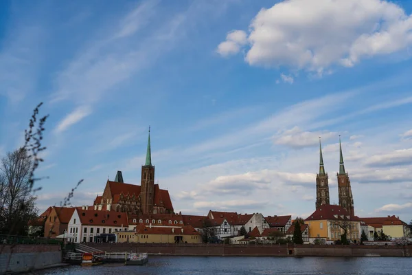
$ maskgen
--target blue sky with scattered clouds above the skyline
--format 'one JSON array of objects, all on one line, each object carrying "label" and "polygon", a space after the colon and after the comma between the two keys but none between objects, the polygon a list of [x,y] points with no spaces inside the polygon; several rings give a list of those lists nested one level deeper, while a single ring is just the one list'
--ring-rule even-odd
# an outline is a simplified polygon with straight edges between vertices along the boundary
[{"label": "blue sky with scattered clouds above the skyline", "polygon": [[[312,3],[317,2],[317,3]],[[307,216],[339,135],[361,217],[412,210],[411,1],[1,1],[0,155],[49,113],[38,207],[138,184],[174,208]]]}]

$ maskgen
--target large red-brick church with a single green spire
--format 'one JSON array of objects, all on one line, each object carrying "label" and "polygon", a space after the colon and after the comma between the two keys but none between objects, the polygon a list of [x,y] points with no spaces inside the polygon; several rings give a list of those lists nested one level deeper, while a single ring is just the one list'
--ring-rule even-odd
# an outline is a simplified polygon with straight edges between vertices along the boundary
[{"label": "large red-brick church with a single green spire", "polygon": [[107,180],[102,196],[96,197],[95,210],[128,212],[130,214],[174,214],[168,190],[155,184],[155,166],[150,151],[150,129],[146,162],[141,166],[140,186],[126,184],[121,171],[114,181]]}]

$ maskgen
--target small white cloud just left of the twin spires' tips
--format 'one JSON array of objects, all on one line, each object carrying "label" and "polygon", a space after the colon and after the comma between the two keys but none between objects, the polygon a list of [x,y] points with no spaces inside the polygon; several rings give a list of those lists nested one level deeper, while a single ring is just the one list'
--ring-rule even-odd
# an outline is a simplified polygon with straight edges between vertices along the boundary
[{"label": "small white cloud just left of the twin spires' tips", "polygon": [[321,137],[323,141],[326,141],[337,135],[338,133],[336,132],[328,131],[301,131],[299,127],[295,126],[293,129],[275,136],[275,144],[286,145],[292,148],[302,148],[319,145],[319,137]]}]

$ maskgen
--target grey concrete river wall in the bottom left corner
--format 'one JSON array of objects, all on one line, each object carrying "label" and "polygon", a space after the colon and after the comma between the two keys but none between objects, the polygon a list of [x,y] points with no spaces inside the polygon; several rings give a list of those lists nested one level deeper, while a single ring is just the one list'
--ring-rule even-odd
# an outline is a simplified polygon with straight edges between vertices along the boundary
[{"label": "grey concrete river wall in the bottom left corner", "polygon": [[62,262],[60,245],[4,245],[0,254],[0,274],[23,272]]}]

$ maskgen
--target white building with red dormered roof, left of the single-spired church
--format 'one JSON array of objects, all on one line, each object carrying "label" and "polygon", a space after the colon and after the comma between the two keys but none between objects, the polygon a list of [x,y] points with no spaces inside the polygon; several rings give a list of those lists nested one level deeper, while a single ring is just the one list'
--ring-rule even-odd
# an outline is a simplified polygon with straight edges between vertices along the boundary
[{"label": "white building with red dormered roof, left of the single-spired church", "polygon": [[78,207],[67,226],[68,241],[73,243],[95,242],[95,236],[114,234],[128,229],[126,212],[87,210]]}]

